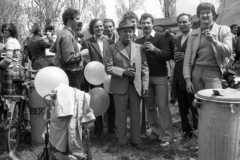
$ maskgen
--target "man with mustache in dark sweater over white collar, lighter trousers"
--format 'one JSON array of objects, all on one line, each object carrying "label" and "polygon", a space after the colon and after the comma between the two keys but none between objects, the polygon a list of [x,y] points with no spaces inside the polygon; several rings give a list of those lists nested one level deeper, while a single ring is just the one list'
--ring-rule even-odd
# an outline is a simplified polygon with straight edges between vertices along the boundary
[{"label": "man with mustache in dark sweater over white collar, lighter trousers", "polygon": [[143,45],[149,66],[149,97],[145,98],[148,121],[152,129],[149,138],[160,138],[161,146],[167,146],[173,139],[166,66],[166,61],[171,59],[171,53],[165,36],[153,30],[151,14],[144,13],[141,16],[140,24],[143,37],[136,43]]}]

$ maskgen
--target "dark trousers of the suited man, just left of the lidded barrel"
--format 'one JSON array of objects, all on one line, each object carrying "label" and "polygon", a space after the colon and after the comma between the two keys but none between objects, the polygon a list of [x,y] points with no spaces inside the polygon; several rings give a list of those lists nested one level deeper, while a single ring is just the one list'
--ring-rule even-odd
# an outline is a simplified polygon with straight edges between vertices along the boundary
[{"label": "dark trousers of the suited man, just left of the lidded barrel", "polygon": [[[194,94],[188,93],[186,90],[177,89],[178,107],[181,116],[181,124],[183,132],[191,132],[198,128],[198,112],[193,107],[192,102],[194,100]],[[191,127],[188,116],[192,115],[193,126]]]}]

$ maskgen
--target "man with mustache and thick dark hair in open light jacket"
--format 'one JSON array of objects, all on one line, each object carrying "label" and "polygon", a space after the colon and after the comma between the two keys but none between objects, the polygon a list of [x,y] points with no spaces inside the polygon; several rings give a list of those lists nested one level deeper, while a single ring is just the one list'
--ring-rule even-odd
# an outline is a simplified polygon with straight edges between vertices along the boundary
[{"label": "man with mustache and thick dark hair in open light jacket", "polygon": [[201,3],[197,7],[200,27],[189,35],[183,63],[189,93],[222,88],[226,59],[233,52],[232,35],[229,27],[214,22],[216,15],[212,3]]}]

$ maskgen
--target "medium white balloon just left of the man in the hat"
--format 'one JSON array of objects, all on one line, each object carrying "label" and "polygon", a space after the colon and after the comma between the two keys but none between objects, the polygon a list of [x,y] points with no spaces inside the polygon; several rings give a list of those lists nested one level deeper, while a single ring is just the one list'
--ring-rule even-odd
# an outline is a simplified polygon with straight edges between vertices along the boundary
[{"label": "medium white balloon just left of the man in the hat", "polygon": [[84,69],[84,76],[86,80],[93,84],[99,85],[106,79],[105,67],[98,61],[89,62]]}]

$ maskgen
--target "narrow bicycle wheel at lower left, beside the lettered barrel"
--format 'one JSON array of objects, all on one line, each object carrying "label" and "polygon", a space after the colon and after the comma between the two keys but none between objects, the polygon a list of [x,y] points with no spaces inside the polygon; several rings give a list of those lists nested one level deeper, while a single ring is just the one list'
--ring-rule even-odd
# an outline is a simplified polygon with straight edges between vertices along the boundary
[{"label": "narrow bicycle wheel at lower left, beside the lettered barrel", "polygon": [[19,121],[19,104],[11,102],[8,111],[8,127],[7,127],[7,149],[8,151],[16,151],[19,145],[20,128]]}]

